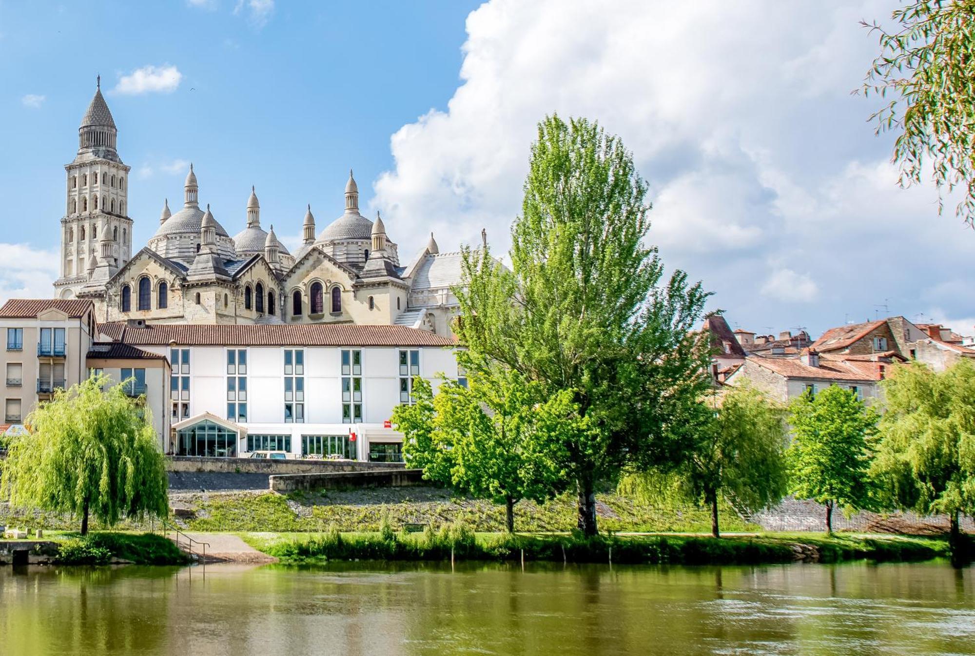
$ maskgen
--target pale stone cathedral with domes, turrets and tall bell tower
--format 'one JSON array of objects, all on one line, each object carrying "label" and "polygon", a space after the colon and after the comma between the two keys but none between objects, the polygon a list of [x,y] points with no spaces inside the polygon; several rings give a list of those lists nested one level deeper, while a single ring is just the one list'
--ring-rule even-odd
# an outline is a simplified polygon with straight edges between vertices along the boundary
[{"label": "pale stone cathedral with domes, turrets and tall bell tower", "polygon": [[360,213],[351,171],[344,212],[316,233],[309,206],[291,253],[273,225],[261,226],[254,187],[242,229],[230,236],[201,202],[191,164],[182,207],[173,212],[164,200],[155,234],[133,254],[130,167],[117,137],[99,84],[78,129],[78,153],[64,167],[59,299],[92,300],[99,322],[396,324],[450,334],[460,253],[441,253],[431,234],[401,264],[378,213],[374,220]]}]

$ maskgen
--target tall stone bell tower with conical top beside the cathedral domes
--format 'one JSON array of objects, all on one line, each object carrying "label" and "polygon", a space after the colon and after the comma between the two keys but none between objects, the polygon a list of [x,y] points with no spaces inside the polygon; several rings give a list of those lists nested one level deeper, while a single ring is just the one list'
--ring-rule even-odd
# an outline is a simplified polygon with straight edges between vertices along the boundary
[{"label": "tall stone bell tower with conical top beside the cathedral domes", "polygon": [[[82,288],[97,291],[132,258],[129,171],[116,150],[118,130],[101,95],[95,97],[78,128],[78,153],[66,172],[61,218],[60,277],[55,294],[75,298]],[[93,266],[94,259],[94,266]]]}]

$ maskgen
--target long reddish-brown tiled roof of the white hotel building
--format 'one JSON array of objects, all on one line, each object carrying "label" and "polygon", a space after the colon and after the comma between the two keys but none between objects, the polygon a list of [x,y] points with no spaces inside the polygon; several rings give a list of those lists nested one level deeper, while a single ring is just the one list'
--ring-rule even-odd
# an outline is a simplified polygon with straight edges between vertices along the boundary
[{"label": "long reddish-brown tiled roof of the white hotel building", "polygon": [[114,321],[100,324],[110,340],[144,347],[452,347],[453,340],[408,326],[351,324],[176,324],[143,328]]}]

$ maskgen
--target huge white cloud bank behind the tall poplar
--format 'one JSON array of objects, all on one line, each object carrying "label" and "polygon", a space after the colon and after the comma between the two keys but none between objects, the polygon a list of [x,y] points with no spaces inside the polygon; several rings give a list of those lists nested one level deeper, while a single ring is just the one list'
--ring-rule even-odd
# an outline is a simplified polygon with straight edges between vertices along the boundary
[{"label": "huge white cloud bank behind the tall poplar", "polygon": [[[891,137],[866,122],[876,105],[850,96],[877,52],[858,21],[889,11],[490,0],[467,19],[447,107],[392,136],[372,209],[401,253],[430,229],[448,250],[482,226],[507,249],[537,121],[586,116],[633,151],[664,262],[703,279],[729,320],[817,332],[885,299],[917,313],[932,305],[925,289],[975,279],[975,233],[937,216],[932,189],[897,186]],[[936,302],[967,316],[965,301]]]}]

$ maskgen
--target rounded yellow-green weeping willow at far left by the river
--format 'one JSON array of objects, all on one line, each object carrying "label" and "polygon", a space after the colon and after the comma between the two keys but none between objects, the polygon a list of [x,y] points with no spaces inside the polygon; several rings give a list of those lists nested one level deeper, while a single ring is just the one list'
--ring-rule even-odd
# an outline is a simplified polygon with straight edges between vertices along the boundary
[{"label": "rounded yellow-green weeping willow at far left by the river", "polygon": [[[102,391],[105,387],[106,390]],[[165,516],[168,478],[148,410],[104,376],[59,390],[27,418],[3,472],[12,506],[112,526],[123,516]]]}]

